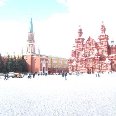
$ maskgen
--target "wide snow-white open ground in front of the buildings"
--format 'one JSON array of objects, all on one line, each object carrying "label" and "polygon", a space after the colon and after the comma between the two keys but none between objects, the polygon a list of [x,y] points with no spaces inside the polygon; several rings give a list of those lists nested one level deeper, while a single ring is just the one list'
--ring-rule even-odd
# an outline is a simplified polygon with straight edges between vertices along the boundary
[{"label": "wide snow-white open ground in front of the buildings", "polygon": [[1,78],[0,116],[116,116],[116,73]]}]

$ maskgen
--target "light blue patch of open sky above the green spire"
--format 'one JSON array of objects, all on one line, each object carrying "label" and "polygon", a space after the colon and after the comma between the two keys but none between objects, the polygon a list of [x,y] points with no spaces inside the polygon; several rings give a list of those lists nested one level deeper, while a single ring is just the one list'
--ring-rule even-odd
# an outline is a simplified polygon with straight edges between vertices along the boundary
[{"label": "light blue patch of open sky above the green spire", "polygon": [[3,20],[23,20],[25,17],[45,20],[54,13],[66,10],[66,6],[56,0],[6,0],[0,14]]}]

